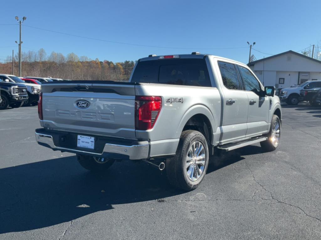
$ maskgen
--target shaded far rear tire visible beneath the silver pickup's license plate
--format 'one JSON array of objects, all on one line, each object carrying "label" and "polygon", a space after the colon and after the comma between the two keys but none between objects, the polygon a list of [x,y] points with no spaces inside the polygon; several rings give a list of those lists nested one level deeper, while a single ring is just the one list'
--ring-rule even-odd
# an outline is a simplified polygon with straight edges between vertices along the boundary
[{"label": "shaded far rear tire visible beneath the silver pickup's license plate", "polygon": [[91,172],[104,172],[115,162],[114,159],[77,155],[79,164]]}]

